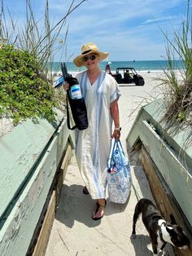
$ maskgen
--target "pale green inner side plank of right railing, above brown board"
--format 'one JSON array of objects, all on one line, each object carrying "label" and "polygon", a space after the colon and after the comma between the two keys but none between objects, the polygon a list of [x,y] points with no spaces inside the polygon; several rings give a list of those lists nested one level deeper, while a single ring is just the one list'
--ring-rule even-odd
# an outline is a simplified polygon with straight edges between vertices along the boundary
[{"label": "pale green inner side plank of right railing, above brown board", "polygon": [[185,168],[185,161],[181,161],[147,121],[142,121],[140,139],[192,227],[192,176],[190,170]]}]

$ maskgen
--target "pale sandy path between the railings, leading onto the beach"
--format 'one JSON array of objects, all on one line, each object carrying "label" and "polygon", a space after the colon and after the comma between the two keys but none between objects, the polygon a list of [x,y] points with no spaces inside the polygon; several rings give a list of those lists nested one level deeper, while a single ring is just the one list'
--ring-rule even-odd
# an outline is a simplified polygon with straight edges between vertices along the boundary
[{"label": "pale sandy path between the railings, leading onto the beach", "polygon": [[[120,124],[122,126],[121,142],[126,148],[125,139],[129,133],[137,112],[142,105],[159,96],[160,87],[153,79],[160,73],[142,73],[144,86],[120,86],[122,96],[119,100]],[[110,255],[124,256],[153,255],[150,238],[142,224],[137,222],[137,237],[131,239],[134,207],[138,198],[147,197],[153,200],[146,175],[139,163],[139,152],[129,155],[134,190],[125,205],[118,205],[107,200],[105,216],[94,221],[91,214],[95,202],[89,195],[84,195],[84,183],[76,166],[75,157],[68,166],[66,179],[59,201],[59,208],[50,234],[46,256],[61,255]],[[166,245],[169,254],[173,255],[170,246]]]}]

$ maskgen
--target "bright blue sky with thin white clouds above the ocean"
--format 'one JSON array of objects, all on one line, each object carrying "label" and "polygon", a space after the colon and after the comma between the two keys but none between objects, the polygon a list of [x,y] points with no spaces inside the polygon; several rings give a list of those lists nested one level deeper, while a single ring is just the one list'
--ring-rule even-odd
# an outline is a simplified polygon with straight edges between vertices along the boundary
[{"label": "bright blue sky with thin white clouds above the ocean", "polygon": [[[31,2],[41,26],[46,1]],[[73,7],[80,2],[73,1]],[[49,1],[52,26],[66,15],[71,3],[72,0]],[[25,0],[4,0],[4,5],[17,24],[24,24]],[[186,7],[187,0],[86,0],[68,15],[59,39],[65,38],[68,27],[66,56],[69,61],[81,54],[81,46],[87,42],[96,43],[99,51],[109,52],[111,61],[164,60],[164,33],[172,38],[173,29],[181,29]],[[55,60],[59,60],[60,55],[55,53]]]}]

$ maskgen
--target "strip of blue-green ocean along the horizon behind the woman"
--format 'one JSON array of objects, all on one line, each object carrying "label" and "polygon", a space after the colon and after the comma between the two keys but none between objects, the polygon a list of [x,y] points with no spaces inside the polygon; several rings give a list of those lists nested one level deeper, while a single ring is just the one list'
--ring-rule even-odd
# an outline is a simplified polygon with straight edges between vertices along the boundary
[{"label": "strip of blue-green ocean along the horizon behind the woman", "polygon": [[[110,61],[111,72],[116,72],[116,68],[135,68],[137,72],[155,72],[162,71],[168,67],[168,61],[166,60],[133,60],[133,61]],[[99,66],[104,71],[106,67],[107,61],[102,61]],[[174,60],[174,64],[176,68],[181,67],[180,60]],[[51,63],[53,72],[61,72],[60,62]],[[68,72],[80,72],[85,70],[85,67],[77,68],[73,62],[66,63],[68,68]]]}]

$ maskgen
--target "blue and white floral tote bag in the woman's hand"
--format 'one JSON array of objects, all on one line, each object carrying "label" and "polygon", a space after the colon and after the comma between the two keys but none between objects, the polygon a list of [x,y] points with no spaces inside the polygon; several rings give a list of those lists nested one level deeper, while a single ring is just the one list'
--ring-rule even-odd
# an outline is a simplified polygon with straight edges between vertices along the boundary
[{"label": "blue and white floral tote bag in the woman's hand", "polygon": [[129,160],[124,155],[120,141],[112,139],[107,166],[109,201],[124,204],[131,191],[132,178]]}]

